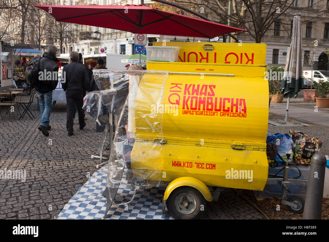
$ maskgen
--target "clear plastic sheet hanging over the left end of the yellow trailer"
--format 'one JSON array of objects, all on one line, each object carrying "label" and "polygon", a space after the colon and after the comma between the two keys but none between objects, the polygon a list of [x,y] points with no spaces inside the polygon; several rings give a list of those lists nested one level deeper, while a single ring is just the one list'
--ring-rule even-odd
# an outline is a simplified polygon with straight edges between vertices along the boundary
[{"label": "clear plastic sheet hanging over the left end of the yellow trailer", "polygon": [[[108,70],[111,72],[112,70]],[[161,112],[155,112],[154,107],[157,103],[163,103],[164,86],[168,79],[168,73],[163,71],[149,71],[149,70],[124,70],[122,71],[125,78],[129,79],[129,94],[126,102],[122,108],[120,117],[116,123],[116,130],[108,166],[108,177],[106,185],[110,191],[110,198],[113,201],[116,189],[119,187],[125,167],[127,168],[127,182],[132,188],[139,185],[157,185],[161,171],[154,167],[154,169],[144,170],[138,166],[139,160],[132,159],[131,155],[137,143],[149,143],[152,145],[148,152],[151,156],[147,159],[158,159],[159,152],[162,149],[160,143],[147,142],[144,138],[145,134],[150,133],[151,136],[156,135],[159,142],[163,139]],[[119,77],[121,73],[114,71],[111,75],[113,77],[114,85],[115,77]],[[108,80],[105,75],[102,75],[103,80]],[[102,83],[98,83],[99,86]],[[105,85],[107,86],[107,85]],[[152,109],[153,107],[153,109]],[[137,145],[139,147],[139,145]],[[137,153],[142,153],[143,150],[137,150]],[[141,159],[145,159],[144,157]],[[153,181],[153,178],[156,181]],[[150,181],[152,182],[150,183]],[[156,184],[155,184],[156,183]]]}]

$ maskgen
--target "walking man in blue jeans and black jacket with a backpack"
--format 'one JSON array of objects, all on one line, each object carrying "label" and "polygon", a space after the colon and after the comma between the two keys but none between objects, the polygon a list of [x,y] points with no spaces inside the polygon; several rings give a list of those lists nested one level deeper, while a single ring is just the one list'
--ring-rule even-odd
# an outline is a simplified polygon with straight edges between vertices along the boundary
[{"label": "walking man in blue jeans and black jacket with a backpack", "polygon": [[29,65],[34,65],[38,63],[39,58],[41,58],[38,69],[42,72],[42,76],[39,75],[39,85],[36,86],[35,89],[37,90],[41,112],[41,120],[38,130],[40,130],[45,136],[49,135],[48,130],[51,128],[49,125],[49,116],[52,106],[52,94],[58,84],[59,66],[56,62],[59,62],[59,60],[56,57],[56,52],[57,47],[50,44],[48,46],[48,53],[45,52],[42,57],[39,57],[38,54],[36,54],[29,62]]}]

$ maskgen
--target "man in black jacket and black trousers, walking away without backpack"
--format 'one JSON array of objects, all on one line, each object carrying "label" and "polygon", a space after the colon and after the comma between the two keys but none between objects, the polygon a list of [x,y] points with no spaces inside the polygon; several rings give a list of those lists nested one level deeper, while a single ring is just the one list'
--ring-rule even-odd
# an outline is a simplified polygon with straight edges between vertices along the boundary
[{"label": "man in black jacket and black trousers, walking away without backpack", "polygon": [[[80,129],[86,126],[84,121],[85,112],[83,106],[83,90],[86,90],[89,84],[89,77],[86,67],[78,63],[79,54],[76,51],[70,53],[71,63],[64,66],[61,77],[62,88],[66,92],[66,129],[67,135],[73,135],[73,106],[74,102],[78,108]],[[64,76],[65,75],[65,76]],[[63,81],[62,81],[63,80]]]}]

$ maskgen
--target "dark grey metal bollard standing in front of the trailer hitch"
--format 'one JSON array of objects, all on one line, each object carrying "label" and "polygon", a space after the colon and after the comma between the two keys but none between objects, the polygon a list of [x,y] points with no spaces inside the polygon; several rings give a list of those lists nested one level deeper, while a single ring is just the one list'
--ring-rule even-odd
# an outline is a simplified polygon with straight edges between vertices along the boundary
[{"label": "dark grey metal bollard standing in front of the trailer hitch", "polygon": [[321,219],[325,165],[322,153],[312,156],[303,219]]}]

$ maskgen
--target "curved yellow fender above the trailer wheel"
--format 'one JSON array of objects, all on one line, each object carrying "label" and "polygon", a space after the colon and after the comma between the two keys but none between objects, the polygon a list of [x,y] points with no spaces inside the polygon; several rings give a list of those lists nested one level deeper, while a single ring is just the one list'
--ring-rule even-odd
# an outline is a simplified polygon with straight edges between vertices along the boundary
[{"label": "curved yellow fender above the trailer wheel", "polygon": [[193,178],[193,177],[179,177],[173,180],[172,182],[169,183],[167,188],[164,191],[164,201],[166,201],[169,198],[170,193],[175,190],[177,187],[181,186],[190,186],[195,189],[197,189],[203,196],[204,198],[208,201],[211,202],[213,201],[213,197],[211,196],[211,193],[208,189],[208,187],[200,180]]}]

